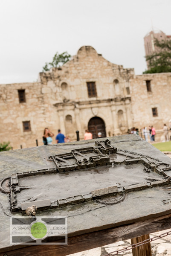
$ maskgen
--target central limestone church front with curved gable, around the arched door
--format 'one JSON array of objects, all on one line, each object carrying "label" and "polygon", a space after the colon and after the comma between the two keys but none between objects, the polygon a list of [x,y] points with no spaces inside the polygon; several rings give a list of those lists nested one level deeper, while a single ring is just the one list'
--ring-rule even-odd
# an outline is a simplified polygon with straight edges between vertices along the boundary
[{"label": "central limestone church front with curved gable, around the arched door", "polygon": [[[129,87],[129,79],[133,76],[133,69],[123,69],[122,66],[112,64],[93,47],[84,46],[61,68],[40,73],[40,81],[47,104],[51,102],[56,106],[61,130],[74,140],[76,130],[80,131],[83,139],[88,121],[93,116],[103,119],[107,136],[121,134],[132,127],[130,95],[126,87]],[[114,83],[116,79],[118,84]],[[91,81],[96,82],[97,96],[89,98],[87,82]],[[118,111],[123,111],[124,116],[120,127]],[[129,121],[127,114],[130,116]],[[72,116],[72,125],[69,127],[67,115]]]}]

